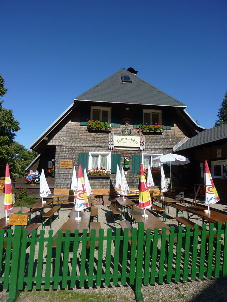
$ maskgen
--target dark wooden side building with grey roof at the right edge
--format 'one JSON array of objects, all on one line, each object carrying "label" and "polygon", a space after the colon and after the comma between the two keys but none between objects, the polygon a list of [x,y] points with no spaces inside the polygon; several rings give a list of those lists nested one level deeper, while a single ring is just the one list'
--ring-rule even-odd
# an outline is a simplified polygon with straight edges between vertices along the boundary
[{"label": "dark wooden side building with grey roof at the right edge", "polygon": [[207,160],[221,202],[227,202],[227,124],[206,129],[179,143],[173,151],[190,157],[188,178],[182,179],[182,185],[201,184],[204,188],[203,169]]}]

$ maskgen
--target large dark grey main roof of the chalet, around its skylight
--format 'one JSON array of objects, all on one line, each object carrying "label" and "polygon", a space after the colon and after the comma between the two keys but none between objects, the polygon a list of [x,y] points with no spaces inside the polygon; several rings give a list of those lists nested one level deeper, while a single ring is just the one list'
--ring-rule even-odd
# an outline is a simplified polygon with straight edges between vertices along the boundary
[{"label": "large dark grey main roof of the chalet, around its skylight", "polygon": [[[121,75],[129,75],[132,83],[123,83]],[[185,104],[150,85],[138,76],[133,75],[124,68],[88,89],[74,100],[187,107]]]}]

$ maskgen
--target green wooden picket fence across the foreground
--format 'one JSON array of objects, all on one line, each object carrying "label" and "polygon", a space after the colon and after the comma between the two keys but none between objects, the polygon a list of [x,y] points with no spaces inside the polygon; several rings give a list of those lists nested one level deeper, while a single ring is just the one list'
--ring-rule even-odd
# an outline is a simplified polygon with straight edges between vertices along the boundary
[{"label": "green wooden picket fence across the foreground", "polygon": [[[8,301],[14,301],[18,290],[23,290],[25,285],[28,290],[34,285],[40,290],[41,285],[45,289],[50,286],[57,289],[61,285],[64,289],[94,284],[99,287],[102,283],[108,286],[110,282],[113,286],[118,282],[134,285],[137,299],[143,301],[142,284],[227,276],[226,232],[221,224],[215,229],[211,223],[209,231],[203,224],[202,232],[198,231],[198,226],[194,232],[190,231],[190,226],[179,226],[175,233],[171,226],[169,234],[163,228],[161,235],[158,229],[153,233],[149,229],[144,235],[144,224],[139,223],[138,231],[133,228],[132,236],[128,235],[128,229],[124,230],[123,236],[120,229],[116,232],[108,229],[107,236],[100,229],[98,237],[95,230],[91,231],[90,237],[87,230],[82,236],[75,230],[73,237],[69,230],[64,237],[61,230],[58,230],[58,237],[53,237],[53,230],[49,230],[48,237],[45,237],[45,230],[38,236],[34,230],[31,237],[27,237],[27,230],[15,226],[13,236],[11,229],[7,237],[4,230],[0,230],[0,282],[3,289],[9,290]],[[177,245],[174,244],[175,237]],[[169,238],[168,244],[166,238]],[[87,250],[89,240],[90,249]],[[95,249],[96,240],[98,249]],[[7,242],[6,249],[4,242]],[[53,242],[56,242],[55,248]]]}]

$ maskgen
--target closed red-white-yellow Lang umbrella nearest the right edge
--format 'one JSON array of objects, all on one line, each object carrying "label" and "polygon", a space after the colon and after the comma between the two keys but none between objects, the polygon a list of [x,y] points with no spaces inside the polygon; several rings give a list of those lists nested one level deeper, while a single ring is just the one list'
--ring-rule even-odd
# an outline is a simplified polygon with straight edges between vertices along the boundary
[{"label": "closed red-white-yellow Lang umbrella nearest the right edge", "polygon": [[206,160],[204,164],[204,188],[205,188],[205,203],[208,204],[208,210],[205,210],[204,212],[210,213],[210,204],[215,204],[215,202],[218,202],[220,198],[218,196],[218,192],[213,183]]}]

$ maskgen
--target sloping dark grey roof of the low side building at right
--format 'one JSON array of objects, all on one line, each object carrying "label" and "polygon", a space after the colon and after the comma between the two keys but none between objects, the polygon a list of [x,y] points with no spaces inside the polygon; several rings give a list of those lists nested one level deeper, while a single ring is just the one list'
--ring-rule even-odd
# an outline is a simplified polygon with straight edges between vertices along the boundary
[{"label": "sloping dark grey roof of the low side building at right", "polygon": [[181,146],[179,146],[179,148],[174,150],[174,152],[193,148],[196,146],[205,145],[207,143],[213,143],[218,140],[224,140],[226,138],[227,138],[227,124],[224,124],[214,128],[206,129],[198,133],[197,135],[191,137],[189,140],[183,143]]}]

